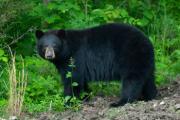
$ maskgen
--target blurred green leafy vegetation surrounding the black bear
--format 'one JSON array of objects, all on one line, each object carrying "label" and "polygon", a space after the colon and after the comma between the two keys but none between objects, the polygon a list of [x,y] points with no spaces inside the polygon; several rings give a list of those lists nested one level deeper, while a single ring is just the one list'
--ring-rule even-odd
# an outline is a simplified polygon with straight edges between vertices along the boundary
[{"label": "blurred green leafy vegetation surrounding the black bear", "polygon": [[[37,55],[36,29],[80,29],[109,22],[134,25],[154,45],[157,85],[170,82],[180,74],[179,6],[175,0],[0,0],[0,115],[8,104],[9,47],[16,54],[16,70],[21,70],[23,57],[28,73],[23,111],[47,111],[50,104],[53,111],[65,109],[66,99],[55,67]],[[92,87],[118,95],[116,83]],[[72,102],[79,104],[78,100]]]}]

